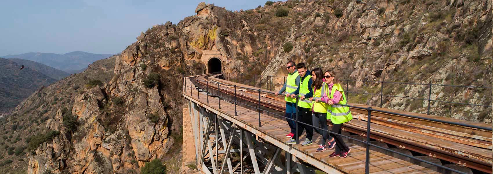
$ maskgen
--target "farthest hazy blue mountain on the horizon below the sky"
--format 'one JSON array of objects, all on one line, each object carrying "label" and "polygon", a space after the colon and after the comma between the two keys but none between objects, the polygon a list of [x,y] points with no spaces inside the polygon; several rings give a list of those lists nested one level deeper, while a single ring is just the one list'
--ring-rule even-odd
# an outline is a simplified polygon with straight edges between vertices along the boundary
[{"label": "farthest hazy blue mountain on the horizon below the sky", "polygon": [[87,68],[87,66],[94,61],[105,59],[110,56],[112,56],[112,54],[93,54],[83,51],[74,51],[66,54],[25,53],[19,55],[6,55],[3,56],[3,58],[19,58],[35,61],[68,73],[76,73]]}]

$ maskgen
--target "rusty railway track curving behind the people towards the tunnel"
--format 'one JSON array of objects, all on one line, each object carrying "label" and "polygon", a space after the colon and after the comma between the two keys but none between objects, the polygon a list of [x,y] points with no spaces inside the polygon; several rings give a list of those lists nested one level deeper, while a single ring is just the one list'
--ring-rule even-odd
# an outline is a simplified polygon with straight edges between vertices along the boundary
[{"label": "rusty railway track curving behind the people towards the tunnel", "polygon": [[[199,75],[195,77],[195,82],[200,84],[201,87],[210,90],[217,90],[219,88],[221,93],[231,96],[236,95],[237,98],[251,103],[258,104],[260,95],[260,105],[278,111],[285,110],[284,98],[273,95],[274,91],[267,91],[216,78],[218,76],[220,74]],[[218,85],[217,82],[222,84]],[[236,91],[234,85],[236,85]],[[368,107],[363,104],[348,103],[348,105]],[[475,125],[476,127],[485,126],[485,124],[381,107],[374,107],[373,109],[382,110],[382,112],[372,111],[371,139],[492,174],[493,152],[491,130],[406,117],[390,114],[387,111],[423,118],[456,121]],[[368,111],[355,107],[352,107],[351,111],[353,112],[353,120],[344,124],[343,130],[365,137]],[[328,124],[331,125],[330,121],[328,121]]]}]

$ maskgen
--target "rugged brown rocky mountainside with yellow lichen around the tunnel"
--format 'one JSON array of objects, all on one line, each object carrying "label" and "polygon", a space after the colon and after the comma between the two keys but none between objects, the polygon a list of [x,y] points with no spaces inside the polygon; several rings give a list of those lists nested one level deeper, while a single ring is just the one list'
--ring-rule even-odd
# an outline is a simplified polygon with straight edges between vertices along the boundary
[{"label": "rugged brown rocky mountainside with yellow lichen around the tunnel", "polygon": [[[30,147],[32,134],[59,131],[35,144],[34,152],[16,157],[24,161],[0,172],[13,168],[28,174],[137,174],[158,158],[167,173],[178,173],[181,77],[213,66],[201,59],[210,51],[221,55],[223,72],[258,79],[260,85],[267,79],[255,75],[283,76],[284,64],[294,60],[306,62],[309,69],[335,70],[346,79],[491,86],[492,76],[484,76],[492,73],[491,3],[288,0],[240,12],[200,3],[196,15],[142,32],[121,55],[112,57],[111,68],[95,63],[38,90],[0,120],[4,130],[15,127],[14,137],[25,138],[10,146]],[[287,16],[280,13],[283,9]],[[100,74],[110,77],[102,79]],[[102,84],[88,83],[98,78]],[[282,83],[281,78],[272,81],[280,88],[276,83]],[[362,93],[380,91],[378,84],[349,87]],[[389,85],[383,91],[426,98],[427,88]],[[478,89],[431,90],[432,100],[491,105],[491,97],[491,91]],[[383,100],[384,107],[401,110],[425,112],[427,106],[395,97]],[[379,105],[380,97],[351,94],[349,101]],[[431,108],[435,115],[491,123],[491,109],[446,103],[432,103]],[[72,119],[75,127],[70,126]]]}]

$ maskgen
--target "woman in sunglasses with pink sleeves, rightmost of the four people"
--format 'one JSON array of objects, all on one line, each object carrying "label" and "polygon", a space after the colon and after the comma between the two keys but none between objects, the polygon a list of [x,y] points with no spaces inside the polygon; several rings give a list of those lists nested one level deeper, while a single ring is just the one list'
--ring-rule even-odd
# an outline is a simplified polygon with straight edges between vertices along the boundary
[{"label": "woman in sunglasses with pink sleeves, rightmost of the four people", "polygon": [[[327,86],[325,87],[326,92],[322,94],[321,100],[329,105],[327,109],[327,119],[330,119],[332,122],[332,132],[341,134],[342,125],[352,120],[351,111],[347,106],[336,105],[347,103],[343,87],[336,74],[327,70],[325,71],[324,78]],[[345,158],[348,156],[351,149],[344,143],[342,137],[332,133],[330,136],[335,139],[336,150],[334,153],[330,154],[329,157]]]}]

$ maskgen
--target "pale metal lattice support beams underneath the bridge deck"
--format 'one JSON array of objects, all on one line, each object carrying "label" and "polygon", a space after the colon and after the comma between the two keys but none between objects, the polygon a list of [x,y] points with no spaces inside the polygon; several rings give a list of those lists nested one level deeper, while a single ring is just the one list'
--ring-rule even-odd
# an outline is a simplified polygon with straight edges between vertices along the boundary
[{"label": "pale metal lattice support beams underneath the bridge deck", "polygon": [[[187,100],[197,167],[204,174],[314,174],[293,156]],[[283,160],[285,159],[285,160]],[[295,158],[296,159],[296,158]]]}]

